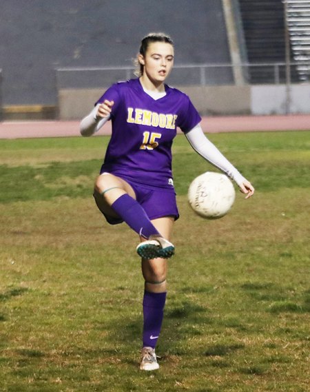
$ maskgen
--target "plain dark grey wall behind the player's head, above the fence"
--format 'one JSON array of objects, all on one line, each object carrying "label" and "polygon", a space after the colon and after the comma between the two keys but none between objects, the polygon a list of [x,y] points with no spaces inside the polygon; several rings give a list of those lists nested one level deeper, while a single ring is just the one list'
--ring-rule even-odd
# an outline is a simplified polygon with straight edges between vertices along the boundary
[{"label": "plain dark grey wall behind the player's head, above the fence", "polygon": [[148,32],[174,39],[176,65],[230,62],[221,0],[0,3],[3,105],[56,105],[56,68],[130,66]]}]

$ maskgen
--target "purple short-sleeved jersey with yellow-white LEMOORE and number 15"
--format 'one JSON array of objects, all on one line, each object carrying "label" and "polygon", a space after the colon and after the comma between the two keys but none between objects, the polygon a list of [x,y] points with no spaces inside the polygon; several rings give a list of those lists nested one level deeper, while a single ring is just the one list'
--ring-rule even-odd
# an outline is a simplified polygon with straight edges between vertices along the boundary
[{"label": "purple short-sleeved jersey with yellow-white LEMOORE and number 15", "polygon": [[112,136],[101,173],[174,189],[171,147],[176,127],[189,132],[201,118],[186,94],[168,85],[165,90],[166,95],[155,100],[139,79],[131,79],[112,85],[97,101],[114,101]]}]

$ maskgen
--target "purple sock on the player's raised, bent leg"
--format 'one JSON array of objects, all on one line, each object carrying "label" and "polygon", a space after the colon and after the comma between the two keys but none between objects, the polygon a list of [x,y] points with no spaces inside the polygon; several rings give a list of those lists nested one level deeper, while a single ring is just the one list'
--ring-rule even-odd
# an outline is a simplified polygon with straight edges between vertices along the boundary
[{"label": "purple sock on the player's raised, bent leg", "polygon": [[129,195],[123,194],[114,201],[111,207],[139,236],[149,238],[154,234],[160,235],[143,207]]}]

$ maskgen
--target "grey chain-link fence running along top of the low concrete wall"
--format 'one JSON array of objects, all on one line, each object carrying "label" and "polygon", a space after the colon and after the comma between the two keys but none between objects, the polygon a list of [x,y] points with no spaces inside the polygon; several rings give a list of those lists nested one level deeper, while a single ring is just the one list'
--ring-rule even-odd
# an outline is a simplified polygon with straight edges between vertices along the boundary
[{"label": "grey chain-link fence running along top of the low concrete wall", "polygon": [[[239,84],[288,84],[309,83],[300,79],[299,69],[310,69],[310,61],[304,63],[242,63],[174,65],[167,83],[172,85],[235,85],[234,68],[242,74]],[[87,67],[56,68],[57,90],[72,88],[96,88],[109,86],[116,81],[134,77],[134,67]]]}]

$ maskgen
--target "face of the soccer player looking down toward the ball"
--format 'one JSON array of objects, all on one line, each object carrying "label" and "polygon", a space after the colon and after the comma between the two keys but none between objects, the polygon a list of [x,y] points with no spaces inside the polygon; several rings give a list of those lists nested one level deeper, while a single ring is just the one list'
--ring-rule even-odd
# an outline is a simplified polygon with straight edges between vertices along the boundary
[{"label": "face of the soccer player looking down toward the ball", "polygon": [[145,56],[139,55],[139,61],[144,65],[143,78],[149,79],[154,85],[160,85],[174,65],[174,47],[170,43],[152,42]]}]

